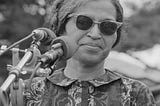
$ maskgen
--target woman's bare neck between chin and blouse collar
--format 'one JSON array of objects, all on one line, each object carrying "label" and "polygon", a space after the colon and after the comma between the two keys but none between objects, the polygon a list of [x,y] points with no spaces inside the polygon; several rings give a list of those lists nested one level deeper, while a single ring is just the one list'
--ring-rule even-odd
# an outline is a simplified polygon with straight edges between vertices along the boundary
[{"label": "woman's bare neck between chin and blouse collar", "polygon": [[79,80],[91,80],[104,73],[104,61],[96,65],[86,65],[74,59],[69,59],[64,69],[64,74],[67,77]]}]

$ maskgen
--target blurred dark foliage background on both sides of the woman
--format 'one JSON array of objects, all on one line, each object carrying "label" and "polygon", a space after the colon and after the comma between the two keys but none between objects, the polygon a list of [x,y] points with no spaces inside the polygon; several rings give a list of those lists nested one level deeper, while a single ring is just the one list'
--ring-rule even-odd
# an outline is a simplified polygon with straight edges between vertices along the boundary
[{"label": "blurred dark foliage background on both sides of the woman", "polygon": [[[121,52],[144,50],[160,43],[160,0],[148,0],[141,7],[134,0],[121,0],[130,10],[125,16],[120,45]],[[131,2],[132,1],[132,2]],[[144,0],[142,0],[144,1]],[[11,45],[26,37],[45,22],[45,0],[0,0],[0,45]],[[19,45],[29,47],[31,39]],[[8,76],[7,64],[12,64],[11,52],[0,57],[0,85]]]}]

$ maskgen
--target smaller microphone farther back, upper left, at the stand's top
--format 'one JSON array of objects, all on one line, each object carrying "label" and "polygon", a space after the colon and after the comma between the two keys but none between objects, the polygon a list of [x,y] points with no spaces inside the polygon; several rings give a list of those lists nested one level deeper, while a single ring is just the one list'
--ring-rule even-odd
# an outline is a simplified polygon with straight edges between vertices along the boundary
[{"label": "smaller microphone farther back, upper left, at the stand's top", "polygon": [[32,33],[34,33],[33,37],[45,46],[50,45],[52,40],[56,38],[55,33],[48,28],[38,28],[33,30]]}]

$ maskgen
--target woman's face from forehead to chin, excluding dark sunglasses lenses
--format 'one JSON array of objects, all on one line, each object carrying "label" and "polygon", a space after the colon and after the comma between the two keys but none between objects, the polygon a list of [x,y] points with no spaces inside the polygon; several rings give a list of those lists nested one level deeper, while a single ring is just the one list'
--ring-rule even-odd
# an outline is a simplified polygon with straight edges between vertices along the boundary
[{"label": "woman's face from forehead to chin, excluding dark sunglasses lenses", "polygon": [[[115,7],[110,0],[90,1],[81,6],[74,14],[76,15],[73,15],[66,24],[65,32],[65,35],[69,36],[72,41],[74,40],[79,47],[72,59],[88,65],[103,62],[117,39],[117,33],[104,34],[97,22],[116,21]],[[77,28],[76,20],[79,15],[87,16],[95,23],[87,29]],[[84,17],[80,19],[84,21]],[[85,22],[87,23],[89,20],[85,20]],[[85,25],[84,27],[82,25],[81,28],[85,28]]]}]

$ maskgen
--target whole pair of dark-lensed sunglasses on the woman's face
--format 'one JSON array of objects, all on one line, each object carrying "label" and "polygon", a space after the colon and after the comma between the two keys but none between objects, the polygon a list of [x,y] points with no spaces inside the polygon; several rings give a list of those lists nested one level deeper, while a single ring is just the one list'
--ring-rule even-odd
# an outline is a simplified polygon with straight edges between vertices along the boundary
[{"label": "whole pair of dark-lensed sunglasses on the woman's face", "polygon": [[76,18],[76,26],[80,30],[89,30],[94,24],[98,24],[98,28],[103,35],[113,35],[117,29],[122,25],[121,22],[112,20],[95,21],[85,15],[70,14],[69,17]]}]

